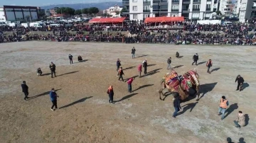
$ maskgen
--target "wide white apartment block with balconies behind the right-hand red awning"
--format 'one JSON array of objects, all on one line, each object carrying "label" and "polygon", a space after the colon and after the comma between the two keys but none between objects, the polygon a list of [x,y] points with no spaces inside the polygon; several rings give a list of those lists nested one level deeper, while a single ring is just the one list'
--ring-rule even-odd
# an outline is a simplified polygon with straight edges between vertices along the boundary
[{"label": "wide white apartment block with balconies behind the right-hand red awning", "polygon": [[130,20],[147,17],[184,16],[185,19],[210,19],[221,0],[122,0],[124,15]]}]

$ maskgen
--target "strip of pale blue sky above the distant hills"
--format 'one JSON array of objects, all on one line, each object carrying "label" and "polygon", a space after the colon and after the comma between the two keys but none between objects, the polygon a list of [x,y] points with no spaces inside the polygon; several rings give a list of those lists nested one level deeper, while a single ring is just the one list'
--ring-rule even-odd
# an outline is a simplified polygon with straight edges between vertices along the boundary
[{"label": "strip of pale blue sky above the distant hills", "polygon": [[0,0],[0,6],[49,6],[53,4],[99,3],[122,0]]}]

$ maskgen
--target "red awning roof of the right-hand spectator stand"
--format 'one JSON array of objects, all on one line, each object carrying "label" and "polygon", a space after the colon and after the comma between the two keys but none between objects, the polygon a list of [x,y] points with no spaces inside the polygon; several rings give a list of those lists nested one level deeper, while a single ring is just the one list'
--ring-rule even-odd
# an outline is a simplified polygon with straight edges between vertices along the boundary
[{"label": "red awning roof of the right-hand spectator stand", "polygon": [[184,21],[184,17],[154,17],[154,18],[146,18],[145,23],[163,23],[163,22],[171,22],[171,21]]}]

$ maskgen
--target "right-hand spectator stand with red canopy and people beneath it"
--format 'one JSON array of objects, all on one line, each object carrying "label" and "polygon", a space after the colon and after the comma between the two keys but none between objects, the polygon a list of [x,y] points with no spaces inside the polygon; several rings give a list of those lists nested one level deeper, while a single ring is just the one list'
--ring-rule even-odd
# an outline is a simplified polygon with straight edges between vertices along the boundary
[{"label": "right-hand spectator stand with red canopy and people beneath it", "polygon": [[170,29],[183,29],[184,17],[153,17],[146,18],[145,28],[147,30],[170,30]]}]

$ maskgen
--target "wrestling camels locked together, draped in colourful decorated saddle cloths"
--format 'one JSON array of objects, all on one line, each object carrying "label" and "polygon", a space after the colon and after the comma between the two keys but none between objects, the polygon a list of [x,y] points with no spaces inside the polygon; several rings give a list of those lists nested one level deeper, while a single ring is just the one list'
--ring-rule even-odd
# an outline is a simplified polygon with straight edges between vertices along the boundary
[{"label": "wrestling camels locked together, draped in colourful decorated saddle cloths", "polygon": [[162,100],[161,94],[165,96],[163,93],[164,88],[168,88],[171,93],[179,93],[182,101],[188,96],[194,96],[196,93],[199,98],[199,87],[199,76],[196,69],[186,72],[183,76],[178,75],[173,69],[171,73],[167,73],[161,80],[159,98]]}]

